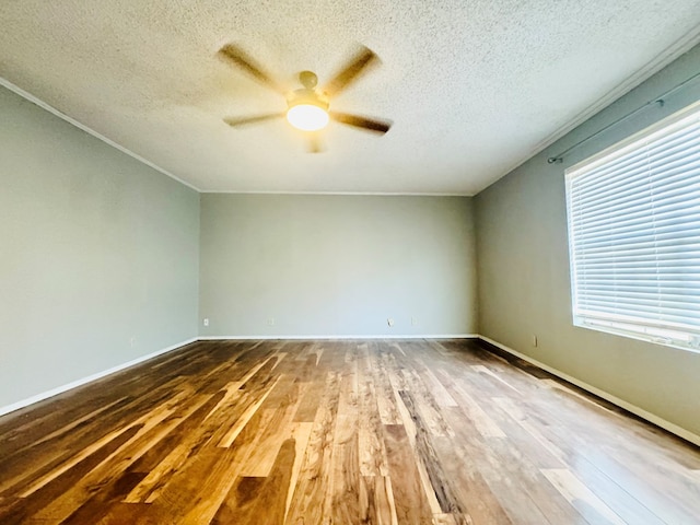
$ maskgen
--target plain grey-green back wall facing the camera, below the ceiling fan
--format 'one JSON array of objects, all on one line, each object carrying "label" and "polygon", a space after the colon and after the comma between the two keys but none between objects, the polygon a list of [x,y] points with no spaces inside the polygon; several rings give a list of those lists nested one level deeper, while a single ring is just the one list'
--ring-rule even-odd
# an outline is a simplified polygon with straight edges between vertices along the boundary
[{"label": "plain grey-green back wall facing the camera, below the ceiling fan", "polygon": [[470,198],[205,194],[200,242],[202,336],[476,331]]}]

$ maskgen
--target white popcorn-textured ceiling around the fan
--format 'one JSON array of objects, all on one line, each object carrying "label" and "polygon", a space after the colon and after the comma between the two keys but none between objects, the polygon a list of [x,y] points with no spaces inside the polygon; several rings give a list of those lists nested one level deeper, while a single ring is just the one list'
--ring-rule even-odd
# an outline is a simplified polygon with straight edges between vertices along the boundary
[{"label": "white popcorn-textured ceiling around the fan", "polygon": [[[698,0],[3,0],[0,77],[205,191],[472,195],[697,43]],[[221,61],[237,43],[290,90],[358,43],[382,63],[306,153],[282,96]]]}]

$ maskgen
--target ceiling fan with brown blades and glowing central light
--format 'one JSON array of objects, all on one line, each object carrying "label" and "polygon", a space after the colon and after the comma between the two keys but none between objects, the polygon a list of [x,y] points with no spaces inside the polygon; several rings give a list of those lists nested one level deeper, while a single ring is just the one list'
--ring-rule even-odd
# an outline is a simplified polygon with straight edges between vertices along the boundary
[{"label": "ceiling fan with brown blades and glowing central light", "polygon": [[353,126],[377,135],[386,133],[392,127],[392,122],[388,120],[369,118],[349,113],[331,112],[329,109],[330,100],[355,81],[368,66],[377,60],[377,56],[368,47],[362,46],[361,49],[347,61],[345,67],[322,89],[317,89],[318,78],[316,73],[313,71],[302,71],[299,73],[299,81],[302,88],[291,92],[280,86],[280,84],[266,73],[262,68],[257,66],[255,61],[235,44],[226,44],[219,50],[219,55],[229,62],[243,69],[258,82],[282,94],[287,98],[287,112],[284,113],[269,113],[247,117],[226,117],[224,118],[224,122],[229,126],[237,127],[275,118],[287,118],[293,127],[307,132],[310,151],[312,153],[320,151],[317,131],[325,128],[329,120]]}]

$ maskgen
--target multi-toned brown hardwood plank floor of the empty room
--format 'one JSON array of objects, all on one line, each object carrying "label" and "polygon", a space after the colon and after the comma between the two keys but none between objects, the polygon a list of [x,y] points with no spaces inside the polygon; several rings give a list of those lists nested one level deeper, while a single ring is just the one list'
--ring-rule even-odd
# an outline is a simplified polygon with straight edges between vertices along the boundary
[{"label": "multi-toned brown hardwood plank floor of the empty room", "polygon": [[2,524],[698,524],[700,451],[471,340],[217,341],[0,418]]}]

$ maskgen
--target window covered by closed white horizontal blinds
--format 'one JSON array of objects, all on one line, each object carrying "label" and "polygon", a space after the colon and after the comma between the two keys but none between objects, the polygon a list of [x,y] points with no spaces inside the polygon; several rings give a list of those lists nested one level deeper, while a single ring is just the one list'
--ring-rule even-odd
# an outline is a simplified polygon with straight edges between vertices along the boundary
[{"label": "window covered by closed white horizontal blinds", "polygon": [[700,351],[700,103],[567,170],[574,325]]}]

